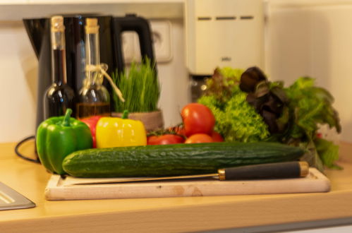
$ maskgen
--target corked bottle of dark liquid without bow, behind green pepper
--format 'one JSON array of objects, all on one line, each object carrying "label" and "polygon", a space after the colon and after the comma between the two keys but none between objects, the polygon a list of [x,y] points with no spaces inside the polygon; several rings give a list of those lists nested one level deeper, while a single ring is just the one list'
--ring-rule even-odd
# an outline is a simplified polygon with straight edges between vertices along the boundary
[{"label": "corked bottle of dark liquid without bow, behind green pepper", "polygon": [[51,18],[51,77],[44,95],[44,119],[63,116],[67,108],[75,114],[75,93],[66,84],[65,26],[62,16]]}]

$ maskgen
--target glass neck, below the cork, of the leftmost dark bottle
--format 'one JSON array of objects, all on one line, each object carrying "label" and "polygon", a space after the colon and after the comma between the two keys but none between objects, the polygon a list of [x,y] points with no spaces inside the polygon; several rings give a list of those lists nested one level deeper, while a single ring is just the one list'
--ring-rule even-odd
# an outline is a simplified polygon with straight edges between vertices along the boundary
[{"label": "glass neck, below the cork, of the leftmost dark bottle", "polygon": [[51,31],[51,78],[58,85],[67,83],[64,30]]}]

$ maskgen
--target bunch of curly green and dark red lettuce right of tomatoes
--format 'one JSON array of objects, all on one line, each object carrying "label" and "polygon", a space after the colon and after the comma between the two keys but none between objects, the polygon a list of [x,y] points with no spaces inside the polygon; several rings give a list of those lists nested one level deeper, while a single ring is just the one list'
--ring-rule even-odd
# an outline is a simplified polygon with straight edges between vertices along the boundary
[{"label": "bunch of curly green and dark red lettuce right of tomatoes", "polygon": [[[241,77],[241,78],[238,78]],[[269,82],[259,68],[246,71],[217,68],[207,80],[207,92],[198,102],[209,107],[215,130],[225,141],[275,141],[304,148],[302,160],[323,171],[335,165],[339,146],[317,138],[318,126],[327,124],[339,133],[334,98],[313,78],[298,78],[288,88]]]}]

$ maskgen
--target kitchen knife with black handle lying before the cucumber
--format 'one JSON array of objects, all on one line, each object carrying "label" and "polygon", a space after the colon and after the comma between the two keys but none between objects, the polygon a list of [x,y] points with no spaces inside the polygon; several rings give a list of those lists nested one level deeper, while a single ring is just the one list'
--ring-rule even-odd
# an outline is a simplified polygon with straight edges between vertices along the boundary
[{"label": "kitchen knife with black handle lying before the cucumber", "polygon": [[136,181],[161,181],[168,179],[199,179],[206,177],[214,177],[220,181],[226,180],[245,180],[245,179],[284,179],[284,178],[298,178],[306,177],[309,172],[309,166],[307,162],[294,161],[294,162],[275,162],[267,163],[262,165],[248,165],[242,167],[229,167],[218,169],[217,173],[214,174],[197,174],[187,176],[176,176],[176,177],[138,177],[138,178],[126,178],[126,179],[109,179],[109,181],[77,181],[74,185],[83,184],[114,184],[114,183],[126,183]]}]

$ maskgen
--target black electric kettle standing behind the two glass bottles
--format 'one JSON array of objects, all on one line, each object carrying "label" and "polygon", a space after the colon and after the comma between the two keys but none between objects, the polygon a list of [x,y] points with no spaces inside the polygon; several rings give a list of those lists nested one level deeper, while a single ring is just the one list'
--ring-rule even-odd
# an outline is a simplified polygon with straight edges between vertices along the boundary
[{"label": "black electric kettle standing behind the two glass bottles", "polygon": [[[66,75],[67,84],[76,93],[82,87],[85,78],[85,18],[97,18],[99,24],[100,61],[109,66],[107,73],[121,72],[125,68],[123,61],[122,32],[135,31],[140,41],[142,57],[147,56],[154,64],[154,52],[150,25],[145,18],[133,14],[124,17],[98,15],[63,15],[66,37]],[[37,120],[36,128],[44,120],[43,96],[51,85],[51,40],[50,18],[23,19],[30,42],[39,61]],[[104,85],[111,92],[109,83]]]}]

